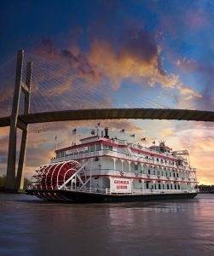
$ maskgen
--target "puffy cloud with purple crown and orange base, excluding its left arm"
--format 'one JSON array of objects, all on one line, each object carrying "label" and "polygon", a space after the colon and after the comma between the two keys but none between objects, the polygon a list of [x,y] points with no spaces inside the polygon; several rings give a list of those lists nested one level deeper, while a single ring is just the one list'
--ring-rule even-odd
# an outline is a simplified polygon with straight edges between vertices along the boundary
[{"label": "puffy cloud with purple crown and orange base, excluding its left arm", "polygon": [[92,40],[88,58],[92,66],[101,67],[114,90],[119,90],[123,79],[153,86],[158,83],[172,88],[177,83],[174,74],[166,73],[160,58],[160,49],[146,31],[128,31],[117,42],[98,38]]}]

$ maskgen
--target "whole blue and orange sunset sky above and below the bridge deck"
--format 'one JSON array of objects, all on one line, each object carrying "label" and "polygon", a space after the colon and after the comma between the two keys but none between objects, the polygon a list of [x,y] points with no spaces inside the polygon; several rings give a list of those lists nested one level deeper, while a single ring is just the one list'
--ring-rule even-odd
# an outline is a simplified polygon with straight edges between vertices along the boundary
[{"label": "whole blue and orange sunset sky above and below the bridge deck", "polygon": [[[31,112],[77,108],[214,110],[214,3],[1,1],[0,116],[10,113],[15,55],[33,62]],[[20,108],[21,112],[21,108]],[[101,120],[126,137],[188,149],[200,183],[214,183],[214,125],[171,120]],[[97,121],[31,125],[26,175]],[[20,131],[18,132],[20,142]],[[5,174],[9,128],[0,128]],[[19,143],[18,143],[19,145]],[[17,147],[17,152],[19,148]]]}]

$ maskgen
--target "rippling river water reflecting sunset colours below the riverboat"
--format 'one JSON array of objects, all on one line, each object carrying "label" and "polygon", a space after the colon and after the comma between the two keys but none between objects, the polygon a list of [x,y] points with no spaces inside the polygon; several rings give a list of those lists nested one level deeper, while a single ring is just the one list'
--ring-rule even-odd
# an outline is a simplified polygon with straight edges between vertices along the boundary
[{"label": "rippling river water reflecting sunset colours below the riverboat", "polygon": [[0,194],[0,255],[214,255],[214,195],[109,204]]}]

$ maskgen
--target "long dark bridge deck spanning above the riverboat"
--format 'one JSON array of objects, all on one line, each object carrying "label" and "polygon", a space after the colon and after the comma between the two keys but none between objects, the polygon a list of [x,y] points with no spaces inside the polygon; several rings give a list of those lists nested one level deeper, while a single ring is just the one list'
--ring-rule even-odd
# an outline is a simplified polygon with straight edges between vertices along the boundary
[{"label": "long dark bridge deck spanning above the riverboat", "polygon": [[[162,108],[105,108],[29,113],[19,115],[19,119],[25,124],[85,119],[174,119],[214,122],[214,112]],[[9,116],[0,118],[0,127],[9,125]]]}]

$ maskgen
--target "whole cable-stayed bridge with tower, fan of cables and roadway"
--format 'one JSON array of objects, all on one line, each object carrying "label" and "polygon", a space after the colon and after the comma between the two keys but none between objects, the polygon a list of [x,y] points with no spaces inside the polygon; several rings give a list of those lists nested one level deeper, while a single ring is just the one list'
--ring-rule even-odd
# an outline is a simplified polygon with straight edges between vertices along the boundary
[{"label": "whole cable-stayed bridge with tower, fan of cables and roadway", "polygon": [[[30,124],[85,119],[214,121],[213,111],[167,108],[143,96],[141,88],[139,94],[133,96],[131,88],[124,86],[123,96],[119,96],[117,88],[113,90],[109,86],[108,78],[89,63],[58,58],[59,61],[47,61],[31,54],[24,58],[24,51],[20,50],[14,66],[15,76],[9,69],[14,64],[14,57],[0,66],[3,81],[0,84],[0,127],[10,127],[5,189],[20,189]],[[22,137],[15,177],[17,128],[22,130]]]}]

